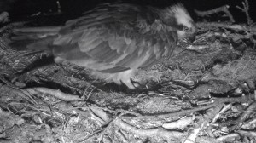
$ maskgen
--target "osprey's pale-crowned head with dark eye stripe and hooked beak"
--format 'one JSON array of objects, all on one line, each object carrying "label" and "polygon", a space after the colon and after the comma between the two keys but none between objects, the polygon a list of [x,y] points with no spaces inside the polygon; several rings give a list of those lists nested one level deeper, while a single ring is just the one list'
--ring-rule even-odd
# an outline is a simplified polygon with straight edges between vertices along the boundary
[{"label": "osprey's pale-crowned head with dark eye stripe and hooked beak", "polygon": [[163,10],[163,22],[177,31],[178,39],[194,41],[196,27],[194,20],[182,4],[178,3]]}]

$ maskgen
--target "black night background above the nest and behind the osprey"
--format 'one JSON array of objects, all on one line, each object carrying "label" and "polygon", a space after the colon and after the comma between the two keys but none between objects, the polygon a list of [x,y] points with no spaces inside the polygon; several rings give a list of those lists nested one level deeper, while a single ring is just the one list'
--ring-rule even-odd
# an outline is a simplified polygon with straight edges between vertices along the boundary
[{"label": "black night background above the nest and behind the osprey", "polygon": [[[250,4],[250,14],[253,21],[256,21],[256,1],[248,0]],[[242,7],[242,0],[59,0],[61,4],[62,18],[65,21],[78,17],[84,11],[93,9],[99,3],[137,3],[141,5],[151,5],[164,8],[172,3],[183,3],[189,10],[189,13],[196,20],[200,18],[195,16],[194,9],[209,10],[215,9],[224,4],[230,5],[230,12],[233,14],[237,23],[246,23],[247,17],[236,5]],[[26,20],[32,18],[33,14],[53,14],[57,12],[56,0],[0,0],[0,12],[8,11],[11,20]],[[215,17],[220,19],[222,14],[216,14]],[[37,16],[34,16],[37,17]],[[214,17],[214,15],[213,15]],[[217,20],[218,20],[217,19]],[[228,19],[225,19],[228,20]],[[53,22],[54,23],[54,22]]]}]

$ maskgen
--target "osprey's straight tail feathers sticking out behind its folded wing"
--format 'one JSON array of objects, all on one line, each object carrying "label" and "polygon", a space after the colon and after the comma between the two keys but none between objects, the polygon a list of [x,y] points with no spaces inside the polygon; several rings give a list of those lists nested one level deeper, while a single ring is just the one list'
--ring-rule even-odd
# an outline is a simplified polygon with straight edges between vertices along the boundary
[{"label": "osprey's straight tail feathers sticking out behind its folded wing", "polygon": [[60,29],[61,26],[16,28],[10,46],[18,50],[51,52],[51,44]]}]

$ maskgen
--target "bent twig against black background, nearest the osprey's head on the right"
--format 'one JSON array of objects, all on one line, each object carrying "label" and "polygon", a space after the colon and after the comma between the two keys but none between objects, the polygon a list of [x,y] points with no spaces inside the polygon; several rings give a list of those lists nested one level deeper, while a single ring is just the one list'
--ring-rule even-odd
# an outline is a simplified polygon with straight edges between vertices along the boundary
[{"label": "bent twig against black background, nearest the osprey's head on the right", "polygon": [[235,22],[234,18],[233,18],[233,15],[230,13],[229,11],[229,8],[230,6],[229,5],[224,5],[222,7],[219,7],[219,8],[216,8],[216,9],[211,9],[211,10],[207,10],[207,11],[199,11],[199,10],[195,10],[195,13],[199,16],[206,16],[206,15],[209,15],[209,14],[216,14],[216,13],[219,13],[219,12],[224,12],[225,14],[228,15],[228,17],[230,18],[230,21],[232,23]]}]

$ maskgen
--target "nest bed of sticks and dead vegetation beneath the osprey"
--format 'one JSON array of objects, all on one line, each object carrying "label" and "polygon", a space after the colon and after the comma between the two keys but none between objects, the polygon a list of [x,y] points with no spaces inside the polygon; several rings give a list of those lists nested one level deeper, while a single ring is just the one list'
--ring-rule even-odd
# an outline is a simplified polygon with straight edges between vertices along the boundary
[{"label": "nest bed of sticks and dead vegetation beneath the osprey", "polygon": [[256,31],[243,5],[246,25],[233,25],[227,6],[197,11],[227,12],[229,24],[198,22],[195,43],[135,77],[145,79],[139,93],[10,49],[24,23],[3,26],[0,142],[255,142]]}]

